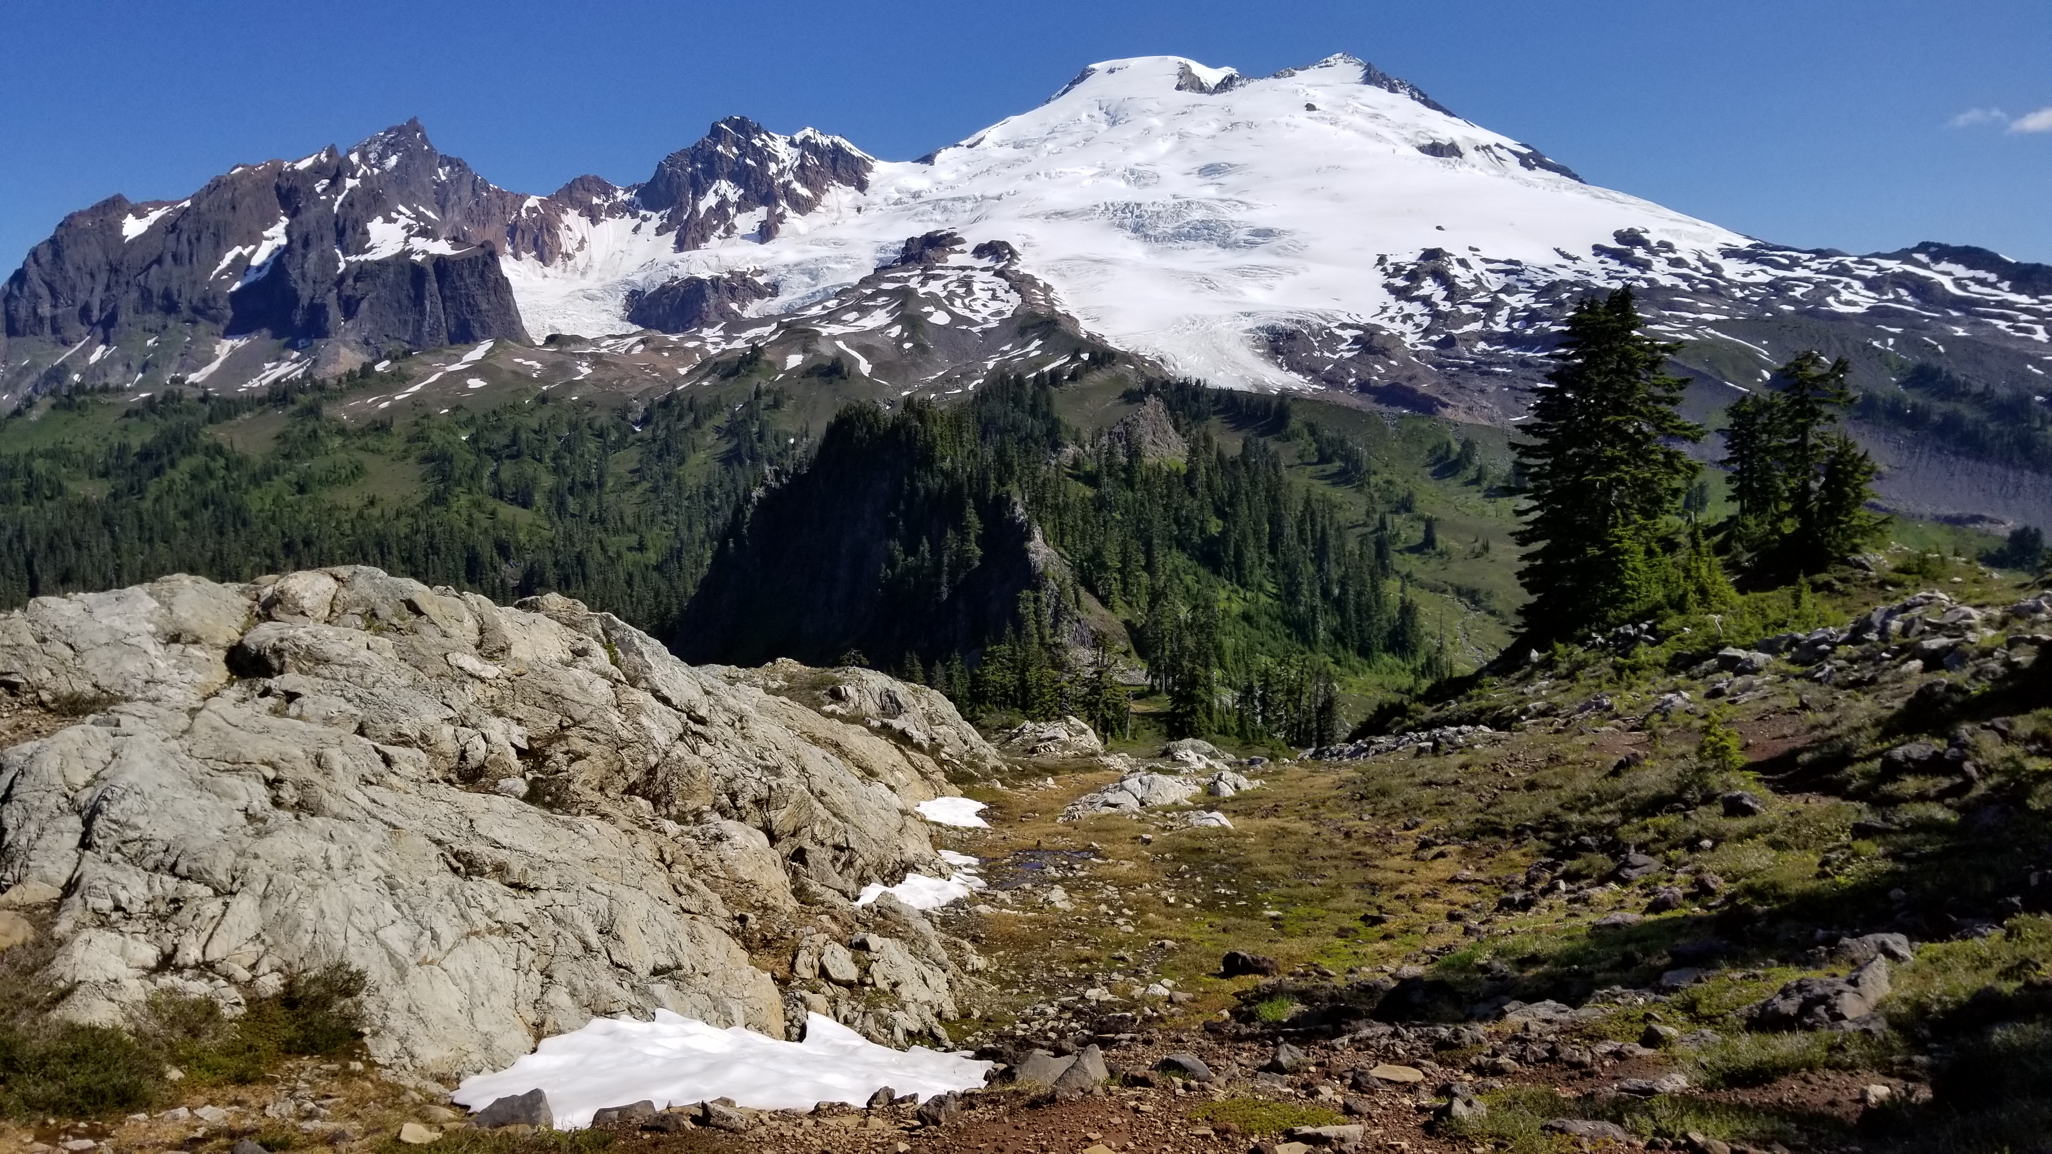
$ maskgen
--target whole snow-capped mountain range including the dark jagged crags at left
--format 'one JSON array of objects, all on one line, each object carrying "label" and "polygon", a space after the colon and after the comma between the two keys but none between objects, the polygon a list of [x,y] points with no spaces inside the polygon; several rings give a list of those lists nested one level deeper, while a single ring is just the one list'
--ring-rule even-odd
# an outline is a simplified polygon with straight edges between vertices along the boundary
[{"label": "whole snow-capped mountain range including the dark jagged crags at left", "polygon": [[[907,267],[930,234],[946,257]],[[2052,370],[2044,265],[1759,242],[1592,187],[1348,55],[1266,78],[1137,57],[911,162],[731,117],[646,183],[534,197],[408,123],[185,201],[115,197],[0,294],[0,400],[646,329],[679,355],[772,341],[792,376],[843,357],[891,394],[944,392],[1049,363],[989,329],[1032,314],[1215,384],[1502,423],[1560,316],[1619,283],[1685,343],[1705,405],[1804,347],[1867,384],[1923,361],[2036,396]]]}]

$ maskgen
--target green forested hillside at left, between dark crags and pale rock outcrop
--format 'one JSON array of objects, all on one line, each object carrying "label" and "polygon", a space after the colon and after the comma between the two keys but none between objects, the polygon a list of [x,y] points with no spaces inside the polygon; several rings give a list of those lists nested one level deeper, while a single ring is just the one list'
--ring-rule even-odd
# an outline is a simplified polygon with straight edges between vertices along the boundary
[{"label": "green forested hillside at left, between dark crags and pale rock outcrop", "polygon": [[[60,402],[41,419],[103,431],[0,452],[0,604],[164,573],[376,565],[497,600],[560,589],[661,628],[735,505],[802,452],[772,435],[774,394],[636,415],[544,392],[404,423],[341,421],[334,396],[170,396],[117,417],[90,413],[109,409],[92,396]],[[261,452],[226,435],[252,415],[279,425]]]}]

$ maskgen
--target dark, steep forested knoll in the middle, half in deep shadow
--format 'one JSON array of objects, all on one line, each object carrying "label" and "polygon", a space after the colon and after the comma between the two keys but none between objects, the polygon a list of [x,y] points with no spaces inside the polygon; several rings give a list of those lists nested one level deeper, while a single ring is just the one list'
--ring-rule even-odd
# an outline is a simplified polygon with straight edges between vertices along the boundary
[{"label": "dark, steep forested knoll in the middle, half in deep shadow", "polygon": [[[1287,474],[1282,441],[1346,456],[1344,437],[1315,437],[1276,398],[1155,384],[1131,398],[1163,396],[1188,452],[1147,460],[1065,427],[1055,388],[1005,378],[950,409],[843,411],[811,468],[722,544],[677,649],[862,659],[977,713],[1118,727],[1124,632],[1172,733],[1297,743],[1338,731],[1342,674],[1441,659],[1389,526],[1348,526]],[[1344,476],[1365,483],[1352,458]],[[1032,556],[1034,534],[1065,561]]]}]

